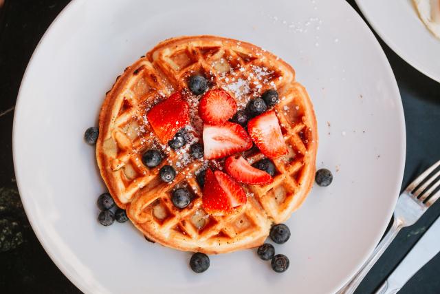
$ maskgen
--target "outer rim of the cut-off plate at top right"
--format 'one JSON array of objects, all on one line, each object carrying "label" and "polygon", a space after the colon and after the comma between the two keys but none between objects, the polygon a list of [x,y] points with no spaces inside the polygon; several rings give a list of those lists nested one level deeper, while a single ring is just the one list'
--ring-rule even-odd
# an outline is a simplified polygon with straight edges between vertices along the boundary
[{"label": "outer rim of the cut-off plate at top right", "polygon": [[[440,83],[440,72],[436,74],[435,72],[432,72],[431,70],[427,70],[425,68],[425,65],[419,63],[419,61],[416,61],[415,59],[410,59],[408,54],[405,54],[405,50],[401,50],[399,46],[395,44],[393,41],[393,38],[390,37],[388,34],[386,34],[383,30],[380,30],[380,25],[373,20],[373,17],[371,17],[371,14],[366,13],[366,9],[364,6],[363,0],[355,0],[356,5],[362,12],[362,16],[365,17],[366,21],[368,21],[369,25],[371,25],[371,28],[375,31],[375,33],[386,43],[386,45],[397,54],[401,59],[403,59],[406,63],[408,63],[410,66],[414,67],[415,70],[420,72],[421,74],[428,76],[428,78],[432,79],[433,81],[436,81],[437,83]],[[383,51],[383,50],[382,50]]]}]

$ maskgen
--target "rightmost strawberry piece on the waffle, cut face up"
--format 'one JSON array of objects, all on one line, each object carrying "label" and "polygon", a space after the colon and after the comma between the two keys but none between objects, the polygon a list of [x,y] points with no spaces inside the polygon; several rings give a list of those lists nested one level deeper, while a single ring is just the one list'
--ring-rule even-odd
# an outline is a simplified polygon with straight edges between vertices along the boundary
[{"label": "rightmost strawberry piece on the waffle, cut face up", "polygon": [[265,156],[277,158],[287,154],[281,127],[273,110],[249,120],[248,132],[256,147],[259,147]]}]

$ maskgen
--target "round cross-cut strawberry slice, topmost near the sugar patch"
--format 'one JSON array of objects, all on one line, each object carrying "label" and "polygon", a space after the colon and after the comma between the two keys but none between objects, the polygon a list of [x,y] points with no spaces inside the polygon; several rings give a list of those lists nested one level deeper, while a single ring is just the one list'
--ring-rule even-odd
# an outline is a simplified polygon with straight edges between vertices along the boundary
[{"label": "round cross-cut strawberry slice, topmost near the sugar patch", "polygon": [[235,100],[225,90],[210,90],[200,100],[199,116],[210,125],[222,125],[235,113]]}]

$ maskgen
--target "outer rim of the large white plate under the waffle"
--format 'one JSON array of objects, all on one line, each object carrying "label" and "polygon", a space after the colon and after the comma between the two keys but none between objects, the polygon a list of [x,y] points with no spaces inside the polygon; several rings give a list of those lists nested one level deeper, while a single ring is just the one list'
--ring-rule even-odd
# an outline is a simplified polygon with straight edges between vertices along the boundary
[{"label": "outer rim of the large white plate under the waffle", "polygon": [[[345,0],[340,0],[340,1],[342,1],[342,3],[344,3],[344,5],[347,5],[349,7],[349,10],[351,9],[351,11],[353,13],[353,18],[354,19],[357,18],[358,21],[360,21],[362,23],[361,25],[363,26],[363,30],[366,30],[366,34],[370,34],[370,36],[372,38],[371,39],[372,43],[375,45],[377,50],[379,50],[379,52],[380,52],[379,56],[382,59],[382,63],[384,63],[384,66],[386,67],[386,70],[388,71],[388,75],[390,76],[391,80],[393,81],[393,83],[392,83],[393,85],[390,85],[390,87],[391,87],[391,90],[395,93],[396,98],[398,97],[397,101],[395,101],[395,102],[397,103],[397,111],[399,112],[399,122],[400,122],[399,123],[399,125],[400,125],[399,134],[401,134],[402,142],[401,142],[401,148],[399,150],[399,154],[401,154],[401,158],[399,160],[399,167],[398,167],[398,171],[397,171],[397,178],[399,178],[399,180],[397,183],[395,183],[395,186],[396,186],[394,189],[395,190],[395,198],[393,201],[393,205],[388,208],[387,218],[382,221],[382,227],[380,227],[380,229],[377,229],[377,234],[374,238],[374,242],[371,242],[369,250],[367,250],[366,253],[364,254],[364,256],[362,256],[362,258],[360,258],[360,261],[358,262],[358,266],[355,266],[355,269],[353,269],[353,271],[349,275],[347,275],[347,277],[345,277],[344,280],[341,280],[338,288],[333,289],[333,291],[338,291],[340,288],[342,288],[342,286],[358,271],[358,269],[360,269],[360,266],[362,266],[362,264],[364,264],[364,262],[367,260],[367,258],[369,258],[369,255],[371,255],[371,253],[375,249],[375,246],[377,246],[377,243],[380,241],[380,238],[382,238],[382,235],[386,231],[386,227],[388,227],[388,222],[391,219],[391,216],[393,215],[393,212],[395,209],[395,204],[397,202],[397,198],[400,193],[401,182],[404,177],[404,167],[405,167],[405,162],[406,162],[406,123],[405,123],[405,117],[404,117],[404,107],[403,107],[403,103],[401,101],[401,95],[399,92],[399,87],[397,86],[397,80],[395,78],[393,69],[392,69],[392,67],[388,61],[388,58],[386,57],[386,54],[385,54],[384,50],[382,49],[379,41],[377,41],[372,30],[369,28],[369,25],[364,21],[364,19],[362,19],[360,14],[358,14],[358,12],[355,9],[349,3],[347,3],[347,1],[345,1]],[[358,2],[358,0],[355,0],[355,1],[356,1],[356,3]],[[17,164],[17,162],[18,162],[18,160],[17,160],[18,155],[17,154],[19,153],[19,151],[17,150],[18,149],[17,140],[19,137],[19,132],[18,132],[19,127],[17,127],[17,125],[19,125],[19,123],[17,123],[17,122],[19,121],[19,117],[21,116],[20,112],[21,112],[22,107],[20,107],[20,105],[23,101],[23,99],[21,99],[22,87],[26,83],[26,81],[28,80],[28,72],[30,71],[30,68],[32,67],[32,65],[34,63],[34,59],[38,55],[39,50],[41,50],[41,43],[43,43],[43,41],[45,41],[45,39],[50,34],[50,32],[52,32],[54,25],[56,25],[58,20],[61,19],[62,17],[64,17],[64,15],[67,14],[69,12],[69,10],[72,9],[73,6],[75,6],[76,4],[78,4],[80,2],[81,2],[80,0],[72,0],[71,2],[67,3],[65,8],[63,8],[63,10],[61,10],[61,12],[58,13],[58,15],[55,17],[55,19],[52,21],[52,23],[49,25],[49,27],[47,28],[47,30],[45,31],[45,33],[41,37],[39,43],[36,45],[36,48],[34,49],[34,52],[32,53],[30,61],[28,62],[28,65],[26,66],[25,72],[23,74],[23,78],[21,79],[19,92],[17,94],[17,101],[15,103],[16,106],[15,106],[15,111],[14,111],[14,119],[13,119],[13,127],[12,127],[12,157],[13,157],[13,162],[14,162],[14,173],[15,173],[15,177],[17,180],[17,188],[19,190],[21,202],[23,203],[23,208],[24,208],[26,216],[31,224],[32,230],[34,231],[41,246],[43,246],[43,249],[45,250],[47,255],[50,257],[52,262],[54,262],[54,264],[56,264],[58,269],[60,269],[60,271],[63,273],[63,275],[65,275],[65,277],[67,277],[69,279],[69,281],[72,282],[72,284],[74,284],[76,287],[78,287],[78,289],[80,291],[83,291],[84,293],[90,293],[90,291],[92,290],[91,285],[89,283],[85,283],[84,279],[81,279],[81,277],[80,277],[80,275],[78,275],[78,273],[76,273],[72,269],[69,269],[69,267],[67,266],[67,264],[65,262],[65,258],[63,258],[63,255],[58,256],[54,252],[52,252],[53,246],[45,240],[45,237],[44,237],[45,235],[42,233],[39,224],[37,224],[38,220],[36,219],[35,214],[31,213],[31,209],[25,200],[26,196],[22,196],[22,195],[24,195],[22,193],[24,188],[21,186],[22,185],[21,182],[23,182],[23,181],[21,180],[21,176],[20,176],[21,173],[19,172],[19,170],[21,170],[21,169],[18,167],[18,164]]]}]

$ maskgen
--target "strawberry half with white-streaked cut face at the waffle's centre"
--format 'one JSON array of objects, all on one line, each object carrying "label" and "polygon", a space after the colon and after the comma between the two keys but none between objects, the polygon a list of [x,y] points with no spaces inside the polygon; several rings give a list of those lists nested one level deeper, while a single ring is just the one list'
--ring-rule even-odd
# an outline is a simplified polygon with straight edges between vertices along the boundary
[{"label": "strawberry half with white-streaked cut face at the waffle's centre", "polygon": [[252,147],[245,129],[227,121],[224,125],[203,125],[203,145],[206,159],[222,158]]}]

